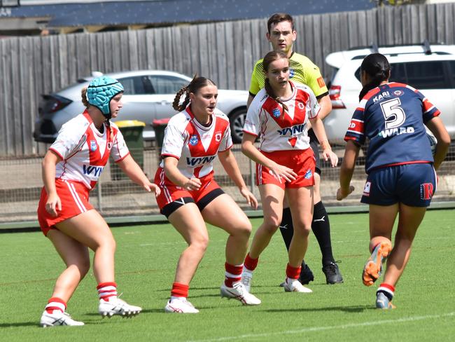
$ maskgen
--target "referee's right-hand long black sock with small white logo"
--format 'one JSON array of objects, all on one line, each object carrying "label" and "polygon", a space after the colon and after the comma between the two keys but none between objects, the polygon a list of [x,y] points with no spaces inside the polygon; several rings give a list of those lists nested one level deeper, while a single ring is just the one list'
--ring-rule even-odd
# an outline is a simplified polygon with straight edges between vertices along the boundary
[{"label": "referee's right-hand long black sock with small white logo", "polygon": [[332,254],[332,242],[330,241],[330,221],[322,201],[314,205],[311,230],[318,240],[319,248],[321,248],[323,266],[335,262]]}]

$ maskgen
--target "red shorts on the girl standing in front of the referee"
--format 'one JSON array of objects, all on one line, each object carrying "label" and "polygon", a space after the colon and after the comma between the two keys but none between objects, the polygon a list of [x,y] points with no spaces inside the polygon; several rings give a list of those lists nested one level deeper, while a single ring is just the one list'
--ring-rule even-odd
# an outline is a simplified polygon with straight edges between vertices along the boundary
[{"label": "red shorts on the girl standing in front of the referee", "polygon": [[274,176],[272,170],[256,163],[256,185],[276,184],[281,189],[302,188],[304,186],[314,185],[316,159],[314,158],[312,149],[274,152],[261,151],[261,153],[275,163],[289,167],[297,174],[297,177],[292,182],[286,182],[281,178],[280,183]]}]

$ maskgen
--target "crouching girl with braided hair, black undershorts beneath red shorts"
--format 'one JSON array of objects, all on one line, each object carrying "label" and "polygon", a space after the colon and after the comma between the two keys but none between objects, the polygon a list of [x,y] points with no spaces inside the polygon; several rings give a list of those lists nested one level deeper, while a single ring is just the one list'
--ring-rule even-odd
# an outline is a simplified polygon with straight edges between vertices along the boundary
[{"label": "crouching girl with braided hair, black undershorts beneath red shorts", "polygon": [[[179,105],[183,94],[185,100]],[[209,242],[205,222],[230,234],[221,296],[235,298],[244,305],[260,303],[240,281],[251,223],[214,179],[212,163],[218,156],[241,195],[249,205],[257,207],[258,201],[246,187],[230,150],[229,120],[215,108],[217,97],[215,83],[204,77],[195,76],[188,86],[179,90],[174,109],[180,113],[167,125],[161,153],[163,160],[155,175],[155,183],[161,189],[158,206],[188,243],[177,264],[171,298],[165,306],[168,313],[199,312],[187,297],[190,281]]]}]

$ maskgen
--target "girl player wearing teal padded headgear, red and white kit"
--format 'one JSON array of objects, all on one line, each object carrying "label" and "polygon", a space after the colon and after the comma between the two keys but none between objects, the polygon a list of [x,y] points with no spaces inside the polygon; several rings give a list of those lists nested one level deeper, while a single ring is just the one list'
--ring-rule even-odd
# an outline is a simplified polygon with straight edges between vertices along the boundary
[{"label": "girl player wearing teal padded headgear, red and white kit", "polygon": [[[116,242],[109,226],[88,202],[88,193],[99,179],[109,156],[135,183],[146,191],[160,189],[152,184],[130,156],[122,133],[110,123],[122,108],[123,86],[102,76],[82,90],[83,114],[62,126],[43,160],[43,182],[38,205],[41,230],[66,264],[41,316],[43,327],[83,325],[65,312],[66,303],[90,268],[88,248],[94,251],[94,277],[101,315],[136,315],[132,306],[117,297],[114,278]],[[88,98],[88,100],[87,100]]]}]

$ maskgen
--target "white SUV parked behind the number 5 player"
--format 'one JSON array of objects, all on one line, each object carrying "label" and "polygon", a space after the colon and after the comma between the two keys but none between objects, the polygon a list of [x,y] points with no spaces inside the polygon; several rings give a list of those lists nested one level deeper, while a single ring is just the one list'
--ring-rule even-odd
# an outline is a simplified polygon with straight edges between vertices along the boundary
[{"label": "white SUV parked behind the number 5 player", "polygon": [[423,93],[441,111],[451,139],[455,138],[455,46],[429,45],[371,47],[330,53],[325,62],[333,67],[329,95],[332,112],[324,126],[331,144],[344,144],[352,114],[358,106],[360,64],[370,53],[386,55],[391,81],[406,83]]}]

